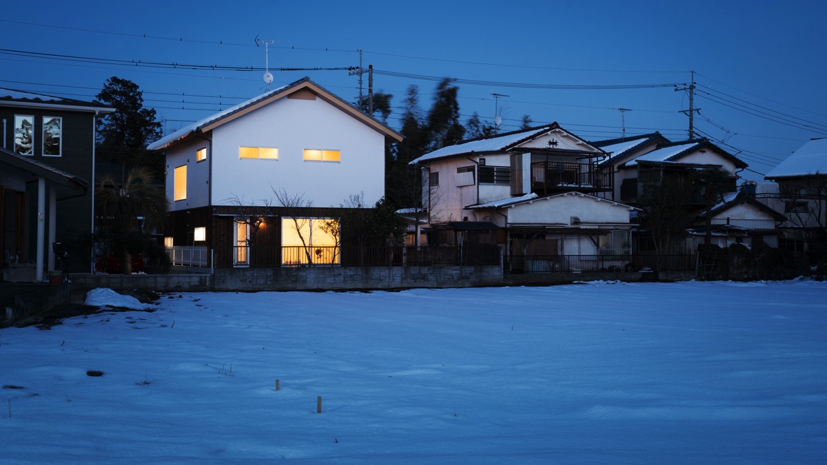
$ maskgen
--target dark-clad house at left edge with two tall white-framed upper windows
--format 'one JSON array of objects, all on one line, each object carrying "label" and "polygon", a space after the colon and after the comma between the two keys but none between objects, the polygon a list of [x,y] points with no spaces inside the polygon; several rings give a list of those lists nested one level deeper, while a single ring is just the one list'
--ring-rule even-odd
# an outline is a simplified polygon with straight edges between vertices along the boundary
[{"label": "dark-clad house at left edge with two tall white-framed upper windows", "polygon": [[[17,256],[38,269],[53,269],[52,242],[61,242],[69,247],[70,271],[91,271],[95,118],[113,111],[98,103],[0,88],[2,148],[15,155],[5,155],[0,170],[0,177],[12,180],[2,185],[4,263]],[[32,163],[21,165],[18,157]],[[48,209],[41,208],[44,201]],[[45,235],[36,233],[41,227]]]}]

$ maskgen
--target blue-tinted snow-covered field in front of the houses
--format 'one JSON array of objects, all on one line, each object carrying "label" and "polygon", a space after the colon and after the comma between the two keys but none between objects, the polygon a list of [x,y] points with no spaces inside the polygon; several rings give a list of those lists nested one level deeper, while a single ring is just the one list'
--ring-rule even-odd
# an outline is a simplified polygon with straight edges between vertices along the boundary
[{"label": "blue-tinted snow-covered field in front of the houses", "polygon": [[[90,298],[136,304],[106,291]],[[164,295],[154,313],[2,330],[0,462],[825,463],[825,297],[818,282]]]}]

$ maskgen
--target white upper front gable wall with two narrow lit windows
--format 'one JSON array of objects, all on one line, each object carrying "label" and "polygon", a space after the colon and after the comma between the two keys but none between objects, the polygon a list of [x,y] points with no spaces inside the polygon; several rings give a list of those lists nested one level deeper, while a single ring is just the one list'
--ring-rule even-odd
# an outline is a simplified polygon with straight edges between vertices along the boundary
[{"label": "white upper front gable wall with two narrow lit windows", "polygon": [[[279,160],[241,160],[239,146],[278,147]],[[339,150],[342,161],[304,161],[304,149]],[[271,185],[318,207],[360,192],[372,206],[385,190],[385,137],[321,98],[281,98],[213,130],[213,204],[275,204]]]}]

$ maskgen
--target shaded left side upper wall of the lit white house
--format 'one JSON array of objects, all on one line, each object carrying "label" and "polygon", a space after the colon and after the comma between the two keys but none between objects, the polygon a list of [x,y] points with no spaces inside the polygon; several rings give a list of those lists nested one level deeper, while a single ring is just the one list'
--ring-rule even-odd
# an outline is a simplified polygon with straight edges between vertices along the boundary
[{"label": "shaded left side upper wall of the lit white house", "polygon": [[[207,160],[195,161],[198,149],[207,148]],[[170,202],[170,211],[204,207],[209,203],[209,142],[194,138],[166,151],[166,199]],[[187,198],[174,202],[175,168],[187,166]]]}]

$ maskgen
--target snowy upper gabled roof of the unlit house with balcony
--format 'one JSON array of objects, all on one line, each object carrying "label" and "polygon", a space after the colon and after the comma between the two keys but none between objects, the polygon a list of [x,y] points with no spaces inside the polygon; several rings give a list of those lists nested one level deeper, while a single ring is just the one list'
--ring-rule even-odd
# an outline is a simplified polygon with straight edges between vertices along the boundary
[{"label": "snowy upper gabled roof of the unlit house with balcony", "polygon": [[[528,141],[536,139],[537,137],[541,137],[544,134],[547,134],[548,132],[555,131],[565,132],[567,136],[576,139],[578,143],[585,144],[586,146],[591,146],[588,141],[585,141],[580,137],[577,137],[571,132],[567,131],[566,129],[560,127],[560,125],[557,124],[557,122],[552,122],[551,124],[547,124],[544,126],[529,127],[528,129],[520,129],[518,131],[505,132],[503,134],[498,134],[494,137],[480,137],[476,139],[467,139],[465,141],[459,141],[457,142],[457,144],[454,144],[452,146],[442,147],[441,149],[432,151],[430,153],[426,153],[425,155],[418,157],[414,161],[411,161],[410,165],[416,165],[424,161],[433,161],[440,158],[450,158],[454,156],[469,156],[471,154],[485,155],[488,153],[512,151],[514,148]],[[600,155],[602,155],[602,151],[599,148],[594,148],[599,152]]]}]

